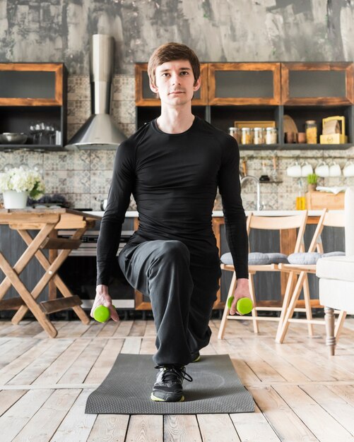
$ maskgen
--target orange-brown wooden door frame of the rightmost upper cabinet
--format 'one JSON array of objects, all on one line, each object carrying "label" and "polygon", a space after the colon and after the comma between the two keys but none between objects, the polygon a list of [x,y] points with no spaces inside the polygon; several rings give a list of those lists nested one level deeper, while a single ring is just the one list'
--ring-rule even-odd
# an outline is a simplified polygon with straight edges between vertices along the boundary
[{"label": "orange-brown wooden door frame of the rightmost upper cabinet", "polygon": [[[345,97],[290,97],[290,71],[345,71]],[[281,102],[286,105],[350,105],[354,103],[353,63],[282,63],[281,64]]]}]

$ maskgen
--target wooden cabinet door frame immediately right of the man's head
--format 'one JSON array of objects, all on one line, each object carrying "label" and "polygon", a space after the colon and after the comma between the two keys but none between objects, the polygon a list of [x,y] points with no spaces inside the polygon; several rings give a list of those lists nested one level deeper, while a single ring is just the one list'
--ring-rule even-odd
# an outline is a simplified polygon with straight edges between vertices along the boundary
[{"label": "wooden cabinet door frame immediately right of the man's head", "polygon": [[[273,97],[216,97],[216,71],[272,71]],[[209,63],[208,104],[210,105],[278,105],[281,104],[280,63]]]}]

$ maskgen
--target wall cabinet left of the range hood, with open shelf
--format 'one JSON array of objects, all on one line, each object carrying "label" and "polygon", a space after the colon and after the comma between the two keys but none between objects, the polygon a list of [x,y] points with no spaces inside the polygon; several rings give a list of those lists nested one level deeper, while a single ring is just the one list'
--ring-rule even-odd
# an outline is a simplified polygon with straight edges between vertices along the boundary
[{"label": "wall cabinet left of the range hood, with open shelf", "polygon": [[[66,144],[66,68],[62,63],[0,64],[0,133],[26,133],[0,150],[62,150]],[[40,125],[33,127],[30,126]],[[58,133],[56,133],[58,132]]]}]

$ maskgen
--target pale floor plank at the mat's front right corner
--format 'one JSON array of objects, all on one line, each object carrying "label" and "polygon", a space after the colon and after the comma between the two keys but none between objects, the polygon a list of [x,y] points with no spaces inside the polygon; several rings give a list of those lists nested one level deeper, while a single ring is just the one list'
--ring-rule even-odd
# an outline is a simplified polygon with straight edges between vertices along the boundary
[{"label": "pale floor plank at the mat's front right corner", "polygon": [[280,441],[269,425],[259,407],[255,405],[253,413],[230,414],[241,441]]}]

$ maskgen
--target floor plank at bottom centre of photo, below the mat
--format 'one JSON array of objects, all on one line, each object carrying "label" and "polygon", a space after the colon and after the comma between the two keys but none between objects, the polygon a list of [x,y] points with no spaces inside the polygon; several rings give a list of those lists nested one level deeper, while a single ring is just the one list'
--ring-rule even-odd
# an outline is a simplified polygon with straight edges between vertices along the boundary
[{"label": "floor plank at bottom centre of photo, below the mat", "polygon": [[202,441],[194,414],[166,414],[163,417],[163,436],[166,442]]}]

